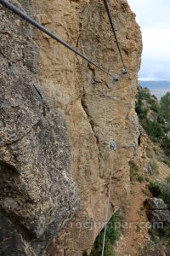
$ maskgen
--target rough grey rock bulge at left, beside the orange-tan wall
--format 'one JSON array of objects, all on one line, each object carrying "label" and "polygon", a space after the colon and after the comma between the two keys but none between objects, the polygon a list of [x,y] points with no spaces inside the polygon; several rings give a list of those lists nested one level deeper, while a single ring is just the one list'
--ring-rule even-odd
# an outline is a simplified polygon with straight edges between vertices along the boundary
[{"label": "rough grey rock bulge at left, beside the orange-tan wall", "polygon": [[42,97],[31,27],[0,7],[0,35],[0,255],[42,255],[79,207],[65,115]]}]

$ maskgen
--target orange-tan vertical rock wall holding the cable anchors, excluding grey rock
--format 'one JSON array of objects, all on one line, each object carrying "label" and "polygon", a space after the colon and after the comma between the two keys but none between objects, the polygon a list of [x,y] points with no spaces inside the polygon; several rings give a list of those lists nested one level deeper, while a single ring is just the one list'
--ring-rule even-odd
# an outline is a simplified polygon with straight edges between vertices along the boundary
[{"label": "orange-tan vertical rock wall holding the cable anchors, excluding grey rock", "polygon": [[[105,73],[52,39],[36,33],[42,90],[51,108],[65,112],[71,175],[82,206],[75,222],[55,241],[51,255],[82,255],[93,245],[105,218],[111,171],[111,212],[122,204],[129,189],[128,160],[133,157],[139,136],[134,105],[141,35],[126,1],[112,0],[110,5],[128,72],[118,84],[112,84]],[[43,25],[101,67],[121,73],[122,62],[103,1],[33,1],[33,6]],[[111,139],[116,140],[116,153],[109,148]]]}]

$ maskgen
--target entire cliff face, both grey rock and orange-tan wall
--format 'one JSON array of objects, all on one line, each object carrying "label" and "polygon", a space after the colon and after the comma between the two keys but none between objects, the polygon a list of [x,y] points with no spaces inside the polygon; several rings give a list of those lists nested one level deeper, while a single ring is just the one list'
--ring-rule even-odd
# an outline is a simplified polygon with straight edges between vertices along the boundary
[{"label": "entire cliff face, both grey rock and orange-tan wall", "polygon": [[[103,1],[14,3],[100,66],[121,73]],[[0,8],[3,255],[42,255],[57,234],[48,255],[82,255],[103,227],[110,172],[110,214],[128,193],[128,161],[139,137],[141,35],[127,1],[110,5],[127,66],[118,84]]]}]

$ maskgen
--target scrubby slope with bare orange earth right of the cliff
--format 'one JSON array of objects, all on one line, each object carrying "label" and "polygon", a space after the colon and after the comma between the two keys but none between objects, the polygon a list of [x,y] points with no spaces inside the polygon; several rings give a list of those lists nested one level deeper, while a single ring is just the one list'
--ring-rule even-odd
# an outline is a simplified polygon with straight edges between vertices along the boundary
[{"label": "scrubby slope with bare orange earth right of the cliff", "polygon": [[130,161],[131,192],[122,212],[117,256],[169,255],[169,106],[169,94],[158,101],[139,87],[136,111],[144,128],[139,127],[138,151]]}]

